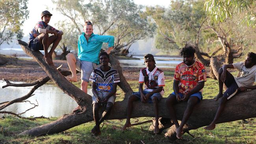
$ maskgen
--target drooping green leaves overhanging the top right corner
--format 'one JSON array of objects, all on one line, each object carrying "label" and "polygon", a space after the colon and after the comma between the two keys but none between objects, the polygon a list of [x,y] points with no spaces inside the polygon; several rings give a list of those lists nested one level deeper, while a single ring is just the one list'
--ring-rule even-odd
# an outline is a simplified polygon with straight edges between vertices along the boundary
[{"label": "drooping green leaves overhanging the top right corner", "polygon": [[215,21],[224,21],[233,15],[246,12],[243,22],[256,26],[256,2],[255,0],[206,0],[206,11]]}]

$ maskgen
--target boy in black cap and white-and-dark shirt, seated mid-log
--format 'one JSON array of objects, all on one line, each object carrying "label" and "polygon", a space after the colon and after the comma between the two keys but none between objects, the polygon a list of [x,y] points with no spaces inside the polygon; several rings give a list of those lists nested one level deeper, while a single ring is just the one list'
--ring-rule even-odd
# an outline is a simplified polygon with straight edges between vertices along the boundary
[{"label": "boy in black cap and white-and-dark shirt, seated mid-log", "polygon": [[[158,123],[158,102],[164,93],[163,87],[165,86],[165,78],[163,71],[156,67],[156,62],[152,54],[147,54],[144,56],[144,62],[147,66],[142,68],[139,74],[139,92],[133,92],[128,100],[128,111],[126,123],[122,127],[122,130],[126,127],[131,127],[130,122],[133,102],[141,100],[143,103],[153,103],[155,112],[155,129],[154,133],[159,133],[159,123]],[[145,83],[145,89],[143,90],[143,83]]]}]

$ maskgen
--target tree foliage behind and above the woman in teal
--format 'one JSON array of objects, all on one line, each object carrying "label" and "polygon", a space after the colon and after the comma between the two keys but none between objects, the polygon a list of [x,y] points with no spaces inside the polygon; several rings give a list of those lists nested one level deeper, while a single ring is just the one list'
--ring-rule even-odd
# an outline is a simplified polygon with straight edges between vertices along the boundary
[{"label": "tree foliage behind and above the woman in teal", "polygon": [[[143,6],[132,0],[54,0],[56,10],[71,20],[77,31],[82,32],[87,20],[93,22],[94,31],[115,37],[115,50],[128,50],[139,39],[152,37],[154,24],[141,17]],[[67,22],[67,21],[66,21]],[[126,55],[125,53],[124,55]]]}]

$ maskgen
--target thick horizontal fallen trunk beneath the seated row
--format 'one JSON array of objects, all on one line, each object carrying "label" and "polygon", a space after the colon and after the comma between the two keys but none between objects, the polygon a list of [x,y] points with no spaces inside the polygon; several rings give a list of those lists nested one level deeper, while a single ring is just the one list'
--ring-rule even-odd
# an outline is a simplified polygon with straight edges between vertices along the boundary
[{"label": "thick horizontal fallen trunk beneath the seated row", "polygon": [[[256,109],[255,93],[256,90],[249,90],[247,92],[241,92],[237,94],[237,96],[234,96],[234,98],[230,99],[226,103],[225,110],[217,123],[232,122],[236,120],[256,117],[256,111],[251,111],[252,109]],[[162,98],[158,104],[159,116],[163,118],[169,118],[166,107],[164,106],[165,100],[166,98]],[[113,120],[126,118],[126,105],[127,100],[115,102],[110,115],[106,119]],[[182,102],[174,106],[178,120],[182,120],[186,105],[187,102]],[[195,106],[193,113],[187,121],[187,124],[189,125],[188,130],[209,125],[215,116],[218,106],[219,102],[215,102],[212,99],[202,100],[202,102]],[[153,105],[134,102],[134,111],[132,113],[132,117],[154,117]],[[81,114],[68,114],[67,116],[64,116],[59,120],[49,124],[26,130],[20,133],[20,135],[38,136],[46,133],[59,133],[71,127],[78,126],[90,121],[93,121],[92,111],[86,111],[85,113]],[[170,133],[169,136],[171,137],[171,135],[173,134]]]}]

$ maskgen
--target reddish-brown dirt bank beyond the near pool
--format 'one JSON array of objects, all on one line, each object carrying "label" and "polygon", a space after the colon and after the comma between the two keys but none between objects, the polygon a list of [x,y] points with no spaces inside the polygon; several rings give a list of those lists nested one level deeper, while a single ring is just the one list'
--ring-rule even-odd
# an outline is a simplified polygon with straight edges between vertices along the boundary
[{"label": "reddish-brown dirt bank beyond the near pool", "polygon": [[[32,82],[44,76],[46,72],[33,59],[14,59],[7,57],[9,63],[0,66],[0,79],[7,79],[9,81]],[[67,61],[54,60],[54,65],[60,66],[63,64],[63,70],[69,70]],[[139,80],[139,72],[141,68],[136,67],[122,67],[122,72],[127,81]],[[173,70],[170,68],[163,68],[165,70]],[[80,78],[80,73],[78,73]]]}]

